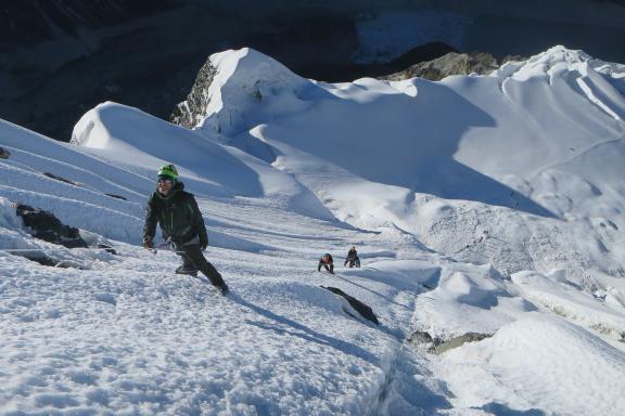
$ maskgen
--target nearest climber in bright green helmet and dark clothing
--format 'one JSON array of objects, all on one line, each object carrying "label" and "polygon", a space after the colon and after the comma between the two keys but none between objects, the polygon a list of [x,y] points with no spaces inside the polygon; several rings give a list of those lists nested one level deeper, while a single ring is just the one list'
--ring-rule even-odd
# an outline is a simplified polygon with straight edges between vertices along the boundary
[{"label": "nearest climber in bright green helmet and dark clothing", "polygon": [[154,248],[154,233],[158,224],[163,238],[169,240],[182,257],[182,265],[176,269],[176,273],[195,276],[201,271],[226,295],[228,285],[202,253],[208,246],[208,235],[195,197],[184,191],[184,184],[178,181],[178,171],[174,165],[162,166],[156,178],[156,191],[148,200],[143,247]]}]

